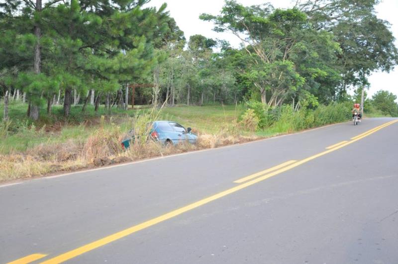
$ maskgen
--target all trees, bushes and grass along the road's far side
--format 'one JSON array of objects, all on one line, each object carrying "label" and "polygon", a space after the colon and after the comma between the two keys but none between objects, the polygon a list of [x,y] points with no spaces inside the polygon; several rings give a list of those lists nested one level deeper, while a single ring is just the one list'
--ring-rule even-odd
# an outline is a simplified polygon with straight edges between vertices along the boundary
[{"label": "all trees, bushes and grass along the road's far side", "polygon": [[[398,62],[377,3],[308,0],[278,9],[225,0],[218,15],[200,19],[234,34],[242,42],[236,48],[202,35],[186,39],[166,4],[149,0],[5,0],[0,180],[348,120],[369,75]],[[396,99],[381,90],[365,100],[365,114],[397,116]],[[192,127],[198,143],[121,148],[127,131],[144,135],[154,119]]]}]

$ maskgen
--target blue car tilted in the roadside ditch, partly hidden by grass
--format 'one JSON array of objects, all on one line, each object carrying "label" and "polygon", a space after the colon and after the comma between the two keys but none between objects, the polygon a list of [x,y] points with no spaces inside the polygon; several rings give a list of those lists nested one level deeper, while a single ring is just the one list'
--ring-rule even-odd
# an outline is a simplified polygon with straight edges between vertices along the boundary
[{"label": "blue car tilted in the roadside ditch, partly hidden by grass", "polygon": [[[191,128],[185,129],[182,125],[173,121],[155,121],[149,130],[150,138],[164,145],[177,145],[181,142],[196,143],[198,136],[191,132]],[[128,148],[134,139],[134,131],[123,139],[122,147]]]}]

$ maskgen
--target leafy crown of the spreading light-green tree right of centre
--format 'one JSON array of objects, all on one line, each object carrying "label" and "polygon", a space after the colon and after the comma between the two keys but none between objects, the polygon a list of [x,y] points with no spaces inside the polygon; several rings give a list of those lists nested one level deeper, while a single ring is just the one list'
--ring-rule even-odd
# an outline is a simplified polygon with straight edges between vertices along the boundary
[{"label": "leafy crown of the spreading light-green tree right of centre", "polygon": [[[221,15],[201,18],[215,23],[215,31],[231,31],[244,42],[235,65],[245,85],[259,90],[263,103],[280,106],[291,98],[298,102],[306,90],[315,96],[334,94],[341,50],[330,33],[314,28],[297,8],[243,6],[228,0]],[[332,91],[320,91],[322,87]]]}]

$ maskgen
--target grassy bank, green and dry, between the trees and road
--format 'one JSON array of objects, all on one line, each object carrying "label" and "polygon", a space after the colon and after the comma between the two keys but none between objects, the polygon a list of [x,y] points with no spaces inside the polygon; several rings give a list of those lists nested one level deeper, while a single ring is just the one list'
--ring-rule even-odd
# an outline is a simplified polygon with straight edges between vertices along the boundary
[{"label": "grassy bank, green and dry, between the trees and road", "polygon": [[[320,107],[298,112],[285,107],[266,113],[267,126],[254,129],[241,117],[247,106],[178,106],[161,111],[112,109],[110,113],[103,107],[96,113],[92,106],[82,113],[78,106],[72,107],[67,120],[62,117],[62,106],[54,106],[52,115],[42,111],[40,120],[32,123],[26,118],[26,107],[10,103],[11,121],[0,122],[0,181],[90,168],[98,158],[102,158],[102,164],[110,160],[120,162],[120,157],[121,161],[138,160],[246,142],[346,119],[344,114],[330,114],[339,107],[330,108],[333,111]],[[127,151],[121,149],[121,139],[134,124],[154,119],[174,120],[192,127],[199,135],[198,144],[164,147],[149,141]]]}]

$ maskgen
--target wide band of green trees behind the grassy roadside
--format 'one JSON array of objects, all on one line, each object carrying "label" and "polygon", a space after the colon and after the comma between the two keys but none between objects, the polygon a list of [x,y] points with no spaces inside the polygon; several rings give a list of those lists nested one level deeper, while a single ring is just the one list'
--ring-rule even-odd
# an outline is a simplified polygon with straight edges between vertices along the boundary
[{"label": "wide band of green trees behind the grassy roadside", "polygon": [[127,108],[132,98],[153,105],[256,99],[299,109],[348,100],[350,88],[367,87],[372,72],[398,62],[389,23],[376,16],[379,0],[298,0],[290,9],[226,0],[219,15],[200,16],[233,33],[240,48],[201,35],[187,42],[166,5],[148,2],[0,3],[0,96],[26,102],[32,119],[44,105],[50,113],[62,103],[67,117],[73,105]]}]

